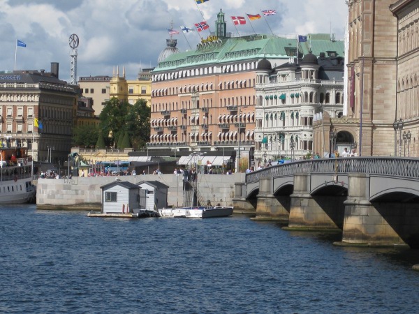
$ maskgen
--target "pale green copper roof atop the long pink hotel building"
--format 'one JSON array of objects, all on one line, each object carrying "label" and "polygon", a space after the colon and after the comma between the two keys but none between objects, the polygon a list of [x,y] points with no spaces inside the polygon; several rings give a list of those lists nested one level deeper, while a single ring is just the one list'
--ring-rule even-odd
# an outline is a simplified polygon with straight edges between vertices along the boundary
[{"label": "pale green copper roof atop the long pink hotel building", "polygon": [[[311,36],[311,37],[310,37]],[[311,45],[313,54],[335,51],[344,55],[344,42],[332,41],[328,34],[310,35],[307,43],[300,43],[300,52],[307,54]],[[307,44],[307,45],[306,45]],[[297,50],[297,39],[272,35],[253,35],[223,38],[210,43],[199,43],[196,50],[171,54],[153,70],[153,73],[213,63],[246,61],[250,59],[288,59]]]}]

